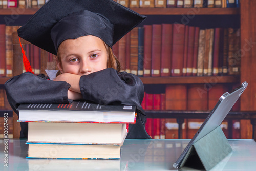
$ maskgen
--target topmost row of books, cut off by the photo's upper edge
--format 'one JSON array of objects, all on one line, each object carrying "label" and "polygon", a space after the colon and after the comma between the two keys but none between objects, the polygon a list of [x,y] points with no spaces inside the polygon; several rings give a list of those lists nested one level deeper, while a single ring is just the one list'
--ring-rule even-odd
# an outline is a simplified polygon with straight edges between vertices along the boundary
[{"label": "topmost row of books, cut off by the photo's upper edge", "polygon": [[[40,8],[48,0],[0,0],[0,8]],[[235,8],[238,0],[114,0],[129,8]]]}]

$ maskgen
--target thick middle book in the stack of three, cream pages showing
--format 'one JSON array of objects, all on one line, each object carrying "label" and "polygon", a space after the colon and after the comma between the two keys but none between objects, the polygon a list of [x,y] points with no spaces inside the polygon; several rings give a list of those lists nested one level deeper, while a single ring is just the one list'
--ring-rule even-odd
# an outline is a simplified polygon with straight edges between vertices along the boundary
[{"label": "thick middle book in the stack of three, cream pages showing", "polygon": [[126,124],[29,122],[28,141],[33,143],[122,145]]}]

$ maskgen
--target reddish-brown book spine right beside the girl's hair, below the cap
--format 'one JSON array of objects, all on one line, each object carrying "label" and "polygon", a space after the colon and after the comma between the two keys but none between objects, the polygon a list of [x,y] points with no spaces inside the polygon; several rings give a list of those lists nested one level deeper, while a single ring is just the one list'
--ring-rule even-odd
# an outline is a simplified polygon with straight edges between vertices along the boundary
[{"label": "reddish-brown book spine right beside the girl's hair, below the cap", "polygon": [[125,71],[125,56],[126,56],[126,36],[123,36],[119,41],[118,41],[118,60],[120,62],[120,71]]}]

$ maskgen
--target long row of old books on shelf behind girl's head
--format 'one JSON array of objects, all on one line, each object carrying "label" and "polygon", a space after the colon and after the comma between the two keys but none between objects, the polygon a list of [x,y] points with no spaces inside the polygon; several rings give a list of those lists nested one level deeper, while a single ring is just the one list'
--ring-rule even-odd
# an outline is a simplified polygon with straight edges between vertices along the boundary
[{"label": "long row of old books on shelf behind girl's head", "polygon": [[[12,77],[12,32],[20,26],[0,25],[0,77]],[[40,49],[23,47],[36,74],[40,73]],[[6,52],[6,53],[3,53]],[[240,29],[183,24],[136,27],[114,46],[121,71],[143,77],[239,75]],[[54,66],[54,55],[48,62]],[[51,68],[52,69],[52,68]]]}]

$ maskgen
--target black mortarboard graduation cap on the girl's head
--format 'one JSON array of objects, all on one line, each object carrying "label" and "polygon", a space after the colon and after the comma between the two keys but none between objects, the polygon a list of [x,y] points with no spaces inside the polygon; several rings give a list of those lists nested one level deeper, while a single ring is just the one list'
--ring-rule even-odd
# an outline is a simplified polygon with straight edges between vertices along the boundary
[{"label": "black mortarboard graduation cap on the girl's head", "polygon": [[50,0],[18,29],[18,35],[56,55],[62,41],[86,35],[112,47],[145,18],[113,0]]}]

